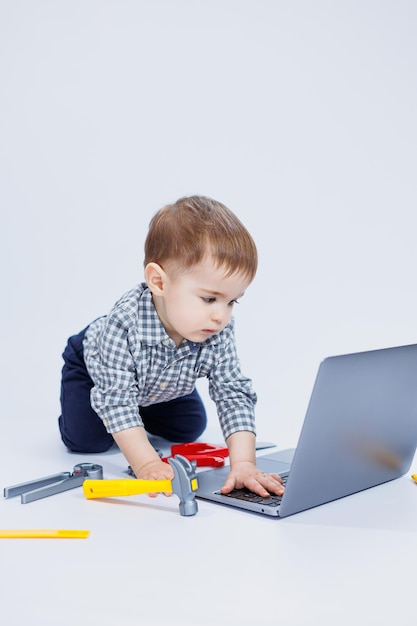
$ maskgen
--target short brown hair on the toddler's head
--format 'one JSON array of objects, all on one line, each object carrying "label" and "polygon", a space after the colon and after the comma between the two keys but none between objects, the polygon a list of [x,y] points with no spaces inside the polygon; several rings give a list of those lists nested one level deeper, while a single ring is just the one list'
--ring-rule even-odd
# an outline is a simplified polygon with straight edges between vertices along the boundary
[{"label": "short brown hair on the toddler's head", "polygon": [[145,241],[145,260],[181,272],[211,254],[226,275],[256,274],[255,242],[236,215],[224,204],[205,196],[180,198],[151,219]]}]

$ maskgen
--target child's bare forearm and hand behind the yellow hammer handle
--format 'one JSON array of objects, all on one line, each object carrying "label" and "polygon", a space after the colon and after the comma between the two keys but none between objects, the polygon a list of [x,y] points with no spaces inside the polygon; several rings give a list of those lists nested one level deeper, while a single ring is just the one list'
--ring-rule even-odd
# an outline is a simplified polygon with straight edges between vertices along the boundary
[{"label": "child's bare forearm and hand behind the yellow hammer handle", "polygon": [[174,478],[169,463],[161,461],[156,450],[149,443],[143,426],[133,426],[112,433],[114,440],[132,468],[136,478],[163,480]]}]

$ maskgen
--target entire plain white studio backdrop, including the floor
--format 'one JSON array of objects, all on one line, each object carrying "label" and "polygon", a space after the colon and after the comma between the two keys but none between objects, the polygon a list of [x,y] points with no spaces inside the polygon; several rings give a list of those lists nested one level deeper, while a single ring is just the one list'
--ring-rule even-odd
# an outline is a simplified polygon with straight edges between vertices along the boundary
[{"label": "entire plain white studio backdrop, including the floor", "polygon": [[[259,439],[296,444],[324,357],[416,342],[416,33],[414,0],[0,0],[2,486],[124,476],[61,443],[61,353],[143,279],[180,196],[224,202],[259,248],[236,307]],[[3,528],[91,530],[0,543],[7,624],[414,626],[411,471],[278,522],[2,499]]]}]

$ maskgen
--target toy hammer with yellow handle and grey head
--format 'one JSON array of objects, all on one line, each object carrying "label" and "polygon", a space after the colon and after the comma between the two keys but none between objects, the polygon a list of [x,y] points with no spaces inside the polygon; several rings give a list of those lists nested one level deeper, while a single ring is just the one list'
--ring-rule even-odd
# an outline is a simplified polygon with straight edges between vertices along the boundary
[{"label": "toy hammer with yellow handle and grey head", "polygon": [[198,489],[195,464],[180,454],[168,459],[174,470],[172,480],[141,480],[121,478],[116,480],[85,480],[83,491],[86,498],[112,498],[134,496],[142,493],[172,492],[180,499],[180,514],[195,515],[198,511],[195,492]]}]

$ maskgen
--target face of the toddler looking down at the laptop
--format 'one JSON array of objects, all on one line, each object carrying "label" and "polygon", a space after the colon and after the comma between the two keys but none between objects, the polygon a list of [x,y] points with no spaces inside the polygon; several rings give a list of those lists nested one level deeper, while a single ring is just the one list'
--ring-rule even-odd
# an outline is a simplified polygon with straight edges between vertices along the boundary
[{"label": "face of the toddler looking down at the laptop", "polygon": [[166,274],[155,306],[177,346],[184,338],[201,343],[229,323],[233,305],[249,283],[242,274],[225,276],[224,270],[207,258],[179,276]]}]

